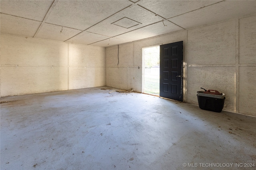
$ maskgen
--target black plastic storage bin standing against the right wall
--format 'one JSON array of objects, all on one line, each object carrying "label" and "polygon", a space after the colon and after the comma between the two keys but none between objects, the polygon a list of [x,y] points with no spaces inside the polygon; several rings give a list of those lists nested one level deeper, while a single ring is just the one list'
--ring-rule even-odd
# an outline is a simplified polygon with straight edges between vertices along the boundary
[{"label": "black plastic storage bin standing against the right wall", "polygon": [[225,94],[214,95],[197,92],[198,105],[200,109],[221,112],[224,106]]}]

